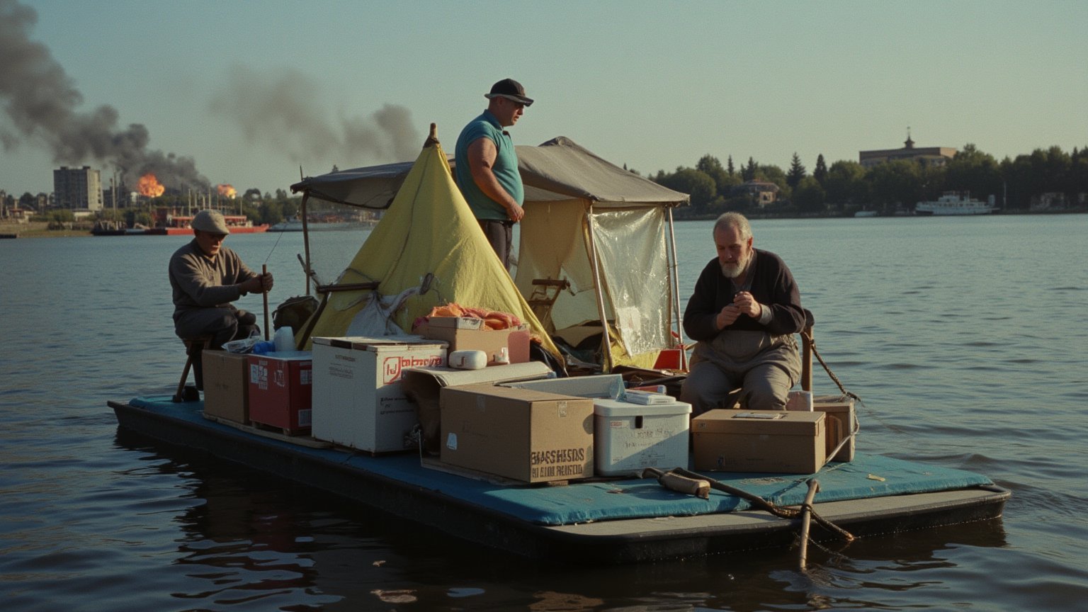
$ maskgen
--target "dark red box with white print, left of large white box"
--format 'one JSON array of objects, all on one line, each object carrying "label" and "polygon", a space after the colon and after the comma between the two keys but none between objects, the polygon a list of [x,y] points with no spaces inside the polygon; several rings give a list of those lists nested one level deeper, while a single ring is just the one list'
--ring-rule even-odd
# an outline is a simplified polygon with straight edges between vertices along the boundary
[{"label": "dark red box with white print, left of large white box", "polygon": [[312,355],[283,351],[247,355],[249,420],[288,434],[310,432]]}]

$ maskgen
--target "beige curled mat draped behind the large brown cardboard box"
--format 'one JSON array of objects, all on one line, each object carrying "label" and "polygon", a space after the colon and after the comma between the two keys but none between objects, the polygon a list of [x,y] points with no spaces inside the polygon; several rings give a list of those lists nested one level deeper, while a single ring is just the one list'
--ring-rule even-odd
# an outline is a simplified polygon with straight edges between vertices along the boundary
[{"label": "beige curled mat draped behind the large brown cardboard box", "polygon": [[440,434],[442,433],[438,395],[443,387],[541,379],[551,374],[552,369],[541,362],[493,366],[480,370],[460,370],[446,367],[410,368],[400,378],[400,388],[405,395],[416,404],[416,416],[422,429],[423,451],[437,455],[440,454]]}]

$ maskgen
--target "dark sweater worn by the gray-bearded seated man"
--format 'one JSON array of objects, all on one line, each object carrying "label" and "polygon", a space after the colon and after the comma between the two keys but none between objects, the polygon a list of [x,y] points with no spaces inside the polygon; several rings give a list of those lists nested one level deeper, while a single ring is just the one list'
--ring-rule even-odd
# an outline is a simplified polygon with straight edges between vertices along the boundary
[{"label": "dark sweater worn by the gray-bearded seated man", "polygon": [[[763,326],[756,319],[741,315],[720,331],[765,331],[771,335],[800,332],[805,327],[805,311],[801,307],[801,292],[793,274],[781,257],[769,250],[753,250],[755,259],[749,269],[749,292],[756,302],[770,308],[770,322]],[[722,276],[718,259],[710,259],[698,274],[695,291],[683,313],[683,330],[689,338],[704,341],[718,335],[715,317],[724,307],[733,303],[732,284]]]}]

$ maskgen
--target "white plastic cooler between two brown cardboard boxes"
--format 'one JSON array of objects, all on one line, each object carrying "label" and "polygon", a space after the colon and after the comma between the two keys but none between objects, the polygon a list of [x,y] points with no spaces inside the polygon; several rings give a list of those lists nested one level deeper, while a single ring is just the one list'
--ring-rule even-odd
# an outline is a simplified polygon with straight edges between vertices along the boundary
[{"label": "white plastic cooler between two brown cardboard boxes", "polygon": [[691,404],[633,404],[594,400],[593,456],[604,476],[640,473],[645,467],[688,468]]}]

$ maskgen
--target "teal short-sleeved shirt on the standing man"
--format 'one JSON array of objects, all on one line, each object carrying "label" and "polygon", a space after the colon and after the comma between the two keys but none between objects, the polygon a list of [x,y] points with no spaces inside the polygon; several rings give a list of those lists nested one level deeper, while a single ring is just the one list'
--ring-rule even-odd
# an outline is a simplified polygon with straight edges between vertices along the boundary
[{"label": "teal short-sleeved shirt on the standing man", "polygon": [[498,184],[503,185],[506,193],[519,204],[524,204],[526,188],[521,183],[521,174],[518,172],[518,154],[514,150],[514,140],[510,135],[499,125],[498,119],[491,111],[483,111],[483,114],[473,119],[461,130],[461,135],[457,137],[457,147],[454,149],[456,159],[455,178],[457,186],[461,189],[461,195],[469,203],[469,208],[477,219],[508,221],[510,216],[506,213],[503,205],[485,196],[475,181],[472,180],[472,172],[469,170],[469,145],[478,138],[490,138],[495,143],[497,155],[495,166],[492,170]]}]

